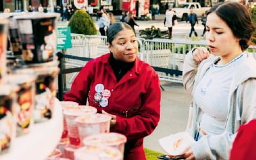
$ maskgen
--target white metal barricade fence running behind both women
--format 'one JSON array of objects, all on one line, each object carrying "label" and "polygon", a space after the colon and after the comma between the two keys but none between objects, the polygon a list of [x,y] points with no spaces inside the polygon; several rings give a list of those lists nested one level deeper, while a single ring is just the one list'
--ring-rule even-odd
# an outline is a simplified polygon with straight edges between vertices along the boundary
[{"label": "white metal barricade fence running behind both women", "polygon": [[[67,49],[67,54],[87,58],[96,58],[109,52],[106,36],[84,36],[72,34],[72,48]],[[141,60],[146,61],[154,67],[170,68],[182,71],[184,58],[188,51],[193,47],[207,46],[206,41],[189,41],[189,40],[169,40],[153,39],[145,40],[137,38],[139,44],[138,56]],[[256,57],[255,49],[250,46],[249,52],[253,52]],[[83,67],[85,61],[66,60],[66,65],[71,67]],[[159,77],[163,81],[172,81],[182,83],[182,76],[165,74],[159,72]],[[74,75],[76,76],[76,75]],[[74,79],[70,79],[69,83]]]}]

